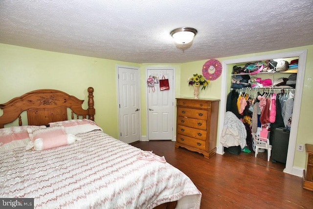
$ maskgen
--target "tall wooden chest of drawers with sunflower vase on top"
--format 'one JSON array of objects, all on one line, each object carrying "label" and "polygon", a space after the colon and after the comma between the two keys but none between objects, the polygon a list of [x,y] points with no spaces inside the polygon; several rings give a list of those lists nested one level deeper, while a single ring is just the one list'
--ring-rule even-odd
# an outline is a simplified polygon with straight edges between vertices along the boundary
[{"label": "tall wooden chest of drawers with sunflower vase on top", "polygon": [[219,114],[218,99],[177,98],[177,132],[175,147],[211,158],[216,154]]}]

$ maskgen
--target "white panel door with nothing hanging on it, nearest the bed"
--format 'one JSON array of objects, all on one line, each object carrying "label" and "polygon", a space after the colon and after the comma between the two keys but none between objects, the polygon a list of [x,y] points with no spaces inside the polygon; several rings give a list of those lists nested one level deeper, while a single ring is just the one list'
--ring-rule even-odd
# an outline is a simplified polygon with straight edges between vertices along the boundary
[{"label": "white panel door with nothing hanging on it, nearest the bed", "polygon": [[140,139],[139,69],[117,67],[120,140],[126,143]]}]

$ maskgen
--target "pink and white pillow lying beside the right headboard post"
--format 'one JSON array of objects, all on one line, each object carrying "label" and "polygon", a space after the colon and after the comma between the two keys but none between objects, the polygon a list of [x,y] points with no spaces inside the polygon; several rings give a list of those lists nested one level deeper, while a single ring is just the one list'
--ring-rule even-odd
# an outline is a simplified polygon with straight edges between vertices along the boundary
[{"label": "pink and white pillow lying beside the right headboard post", "polygon": [[67,134],[81,134],[87,133],[93,130],[102,130],[94,121],[89,119],[72,119],[64,120],[58,122],[49,123],[50,127],[53,127],[57,124],[63,124]]}]

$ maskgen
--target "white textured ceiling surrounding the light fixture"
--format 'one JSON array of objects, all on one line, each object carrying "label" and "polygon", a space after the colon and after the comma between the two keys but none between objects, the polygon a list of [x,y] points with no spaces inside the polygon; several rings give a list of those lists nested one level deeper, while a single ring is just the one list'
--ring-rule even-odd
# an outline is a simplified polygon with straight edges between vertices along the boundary
[{"label": "white textured ceiling surrounding the light fixture", "polygon": [[[176,46],[170,31],[198,30]],[[313,0],[1,0],[0,43],[134,63],[313,45]]]}]

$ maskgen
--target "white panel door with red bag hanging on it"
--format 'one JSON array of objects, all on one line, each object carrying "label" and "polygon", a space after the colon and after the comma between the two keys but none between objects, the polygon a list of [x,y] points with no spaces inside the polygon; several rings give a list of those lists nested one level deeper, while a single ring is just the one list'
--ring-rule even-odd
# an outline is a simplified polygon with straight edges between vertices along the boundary
[{"label": "white panel door with red bag hanging on it", "polygon": [[[146,78],[155,78],[154,91],[146,87],[148,140],[172,140],[174,138],[174,68],[146,68]],[[168,79],[169,90],[160,90],[158,79]]]}]

